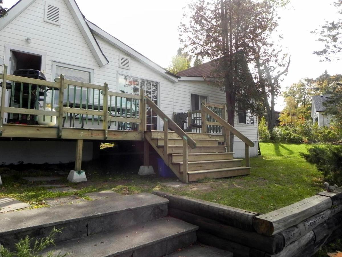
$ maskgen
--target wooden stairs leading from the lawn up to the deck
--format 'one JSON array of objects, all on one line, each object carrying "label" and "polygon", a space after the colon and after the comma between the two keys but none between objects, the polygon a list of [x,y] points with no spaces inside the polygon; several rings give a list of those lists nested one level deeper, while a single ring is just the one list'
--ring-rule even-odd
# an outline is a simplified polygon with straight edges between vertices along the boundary
[{"label": "wooden stairs leading from the lawn up to the deck", "polygon": [[[250,167],[242,166],[241,159],[234,159],[233,152],[227,152],[224,135],[210,133],[187,133],[196,142],[196,148],[188,147],[188,181],[203,178],[226,178],[250,173]],[[164,159],[180,179],[183,178],[183,139],[169,132],[168,159],[164,155],[164,132],[146,131],[145,139]]]}]

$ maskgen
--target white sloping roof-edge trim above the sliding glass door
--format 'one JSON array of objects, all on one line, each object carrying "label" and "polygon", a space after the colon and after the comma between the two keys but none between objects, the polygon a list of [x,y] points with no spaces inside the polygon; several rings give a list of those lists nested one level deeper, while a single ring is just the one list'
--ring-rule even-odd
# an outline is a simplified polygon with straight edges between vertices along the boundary
[{"label": "white sloping roof-edge trim above the sliding glass door", "polygon": [[128,45],[124,44],[119,39],[111,36],[110,34],[105,32],[103,29],[96,26],[94,23],[92,23],[88,20],[86,20],[86,21],[87,21],[90,29],[92,30],[92,32],[95,35],[97,35],[98,37],[102,38],[103,40],[105,40],[106,42],[111,44],[112,46],[114,46],[114,47],[118,48],[119,50],[121,50],[122,52],[126,53],[128,56],[130,56],[130,57],[134,58],[135,60],[145,64],[150,69],[160,73],[163,77],[167,78],[168,80],[170,80],[172,82],[178,82],[179,76],[177,76],[176,74],[173,74],[173,73],[163,69],[161,66],[159,66],[155,62],[151,61],[147,57],[143,56],[141,53],[137,52],[136,50],[129,47]]}]

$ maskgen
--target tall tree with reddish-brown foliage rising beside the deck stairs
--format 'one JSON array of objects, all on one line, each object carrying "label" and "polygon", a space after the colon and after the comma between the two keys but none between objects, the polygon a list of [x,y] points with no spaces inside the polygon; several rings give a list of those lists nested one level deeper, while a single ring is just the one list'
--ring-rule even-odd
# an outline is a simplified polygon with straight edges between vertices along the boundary
[{"label": "tall tree with reddish-brown foliage rising beside the deck stairs", "polygon": [[[181,41],[194,55],[216,60],[208,83],[225,91],[227,118],[232,126],[237,103],[252,112],[260,106],[260,92],[255,87],[248,63],[255,48],[253,39],[256,37],[255,41],[263,47],[266,38],[277,26],[277,2],[197,0],[188,4],[187,13],[184,14],[189,18],[189,23],[180,25]],[[269,70],[269,74],[272,71]],[[268,75],[267,72],[265,74]],[[232,133],[230,139],[233,148]]]}]

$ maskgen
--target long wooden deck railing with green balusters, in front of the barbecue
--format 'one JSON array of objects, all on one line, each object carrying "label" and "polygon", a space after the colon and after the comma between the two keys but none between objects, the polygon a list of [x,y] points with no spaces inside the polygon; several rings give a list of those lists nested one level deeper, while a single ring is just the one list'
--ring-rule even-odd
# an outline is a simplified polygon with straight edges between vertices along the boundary
[{"label": "long wooden deck railing with green balusters, in front of the barbecue", "polygon": [[[7,123],[37,125],[38,122],[50,122],[49,126],[58,127],[59,138],[62,137],[65,122],[69,122],[70,127],[75,127],[76,122],[82,128],[85,123],[93,129],[101,129],[104,139],[108,130],[144,129],[141,126],[142,94],[109,91],[107,83],[83,83],[65,79],[63,75],[54,82],[9,75],[7,66],[4,66],[0,80],[0,136],[5,113],[8,113]],[[5,103],[7,90],[10,98],[8,106]]]}]

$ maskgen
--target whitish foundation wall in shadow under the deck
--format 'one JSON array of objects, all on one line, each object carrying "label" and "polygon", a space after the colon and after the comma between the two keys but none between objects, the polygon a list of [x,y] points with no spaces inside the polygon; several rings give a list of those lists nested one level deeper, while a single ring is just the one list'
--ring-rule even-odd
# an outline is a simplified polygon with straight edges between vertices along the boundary
[{"label": "whitish foundation wall in shadow under the deck", "polygon": [[[0,165],[75,161],[76,141],[0,141]],[[82,161],[93,158],[93,142],[83,143]]]}]

